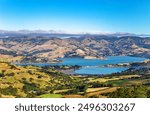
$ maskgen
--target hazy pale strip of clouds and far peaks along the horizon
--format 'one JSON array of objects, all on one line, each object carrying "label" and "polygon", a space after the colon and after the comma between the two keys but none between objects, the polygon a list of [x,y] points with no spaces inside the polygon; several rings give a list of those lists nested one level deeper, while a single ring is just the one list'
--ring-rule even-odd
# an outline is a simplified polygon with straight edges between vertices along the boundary
[{"label": "hazy pale strip of clouds and far peaks along the horizon", "polygon": [[47,35],[47,34],[65,34],[65,35],[113,35],[113,36],[150,36],[147,34],[133,34],[133,33],[124,33],[124,32],[66,32],[63,30],[18,30],[18,31],[8,31],[8,30],[0,30],[0,35]]}]

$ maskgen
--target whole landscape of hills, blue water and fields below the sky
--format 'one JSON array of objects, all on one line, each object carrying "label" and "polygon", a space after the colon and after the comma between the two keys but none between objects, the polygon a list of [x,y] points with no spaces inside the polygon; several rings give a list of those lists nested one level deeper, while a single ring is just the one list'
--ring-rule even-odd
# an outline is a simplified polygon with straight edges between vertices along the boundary
[{"label": "whole landscape of hills, blue water and fields below the sky", "polygon": [[0,97],[149,98],[149,57],[149,37],[2,36]]}]

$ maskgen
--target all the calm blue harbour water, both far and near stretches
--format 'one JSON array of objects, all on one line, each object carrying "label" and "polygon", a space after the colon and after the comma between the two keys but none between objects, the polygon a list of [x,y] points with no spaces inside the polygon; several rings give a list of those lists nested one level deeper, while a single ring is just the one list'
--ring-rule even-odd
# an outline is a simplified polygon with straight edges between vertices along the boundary
[{"label": "all the calm blue harbour water, both far and near stretches", "polygon": [[61,63],[55,63],[55,64],[42,63],[42,64],[32,64],[32,65],[36,65],[36,66],[80,65],[83,67],[75,71],[77,74],[111,74],[111,73],[124,71],[128,68],[122,68],[122,67],[108,68],[108,67],[100,67],[100,66],[106,65],[106,64],[139,62],[145,59],[146,58],[130,57],[130,56],[110,56],[110,57],[107,57],[106,60],[99,60],[99,59],[87,60],[83,58],[62,58]]}]

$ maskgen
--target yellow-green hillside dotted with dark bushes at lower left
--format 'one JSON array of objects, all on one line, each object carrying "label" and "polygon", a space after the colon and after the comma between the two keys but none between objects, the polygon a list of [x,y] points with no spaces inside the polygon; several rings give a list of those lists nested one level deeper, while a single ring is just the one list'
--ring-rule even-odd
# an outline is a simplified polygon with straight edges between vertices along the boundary
[{"label": "yellow-green hillside dotted with dark bushes at lower left", "polygon": [[77,78],[55,70],[0,63],[1,97],[38,97],[55,90],[70,88],[78,82],[80,80]]}]

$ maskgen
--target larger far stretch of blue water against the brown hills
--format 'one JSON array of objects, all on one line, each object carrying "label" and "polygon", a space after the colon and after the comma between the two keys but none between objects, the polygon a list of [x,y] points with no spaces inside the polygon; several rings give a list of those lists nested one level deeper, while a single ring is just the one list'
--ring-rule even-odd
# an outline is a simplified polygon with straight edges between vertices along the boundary
[{"label": "larger far stretch of blue water against the brown hills", "polygon": [[100,66],[106,64],[118,64],[118,63],[129,63],[129,62],[139,62],[146,58],[130,57],[130,56],[109,56],[106,60],[87,60],[83,58],[63,58],[62,65],[80,65],[80,66]]}]

